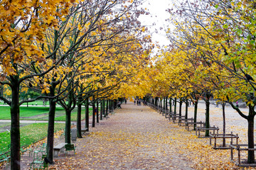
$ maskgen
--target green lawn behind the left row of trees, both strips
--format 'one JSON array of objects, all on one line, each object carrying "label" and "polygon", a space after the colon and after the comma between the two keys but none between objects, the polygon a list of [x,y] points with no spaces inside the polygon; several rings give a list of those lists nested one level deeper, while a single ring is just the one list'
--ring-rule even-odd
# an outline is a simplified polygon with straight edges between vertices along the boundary
[{"label": "green lawn behind the left row of trees, both strips", "polygon": [[[48,120],[48,107],[20,107],[21,120]],[[92,115],[92,108],[90,115]],[[82,119],[85,118],[85,109],[82,109]],[[0,106],[0,119],[11,119],[10,107]],[[65,121],[65,110],[63,108],[56,108],[55,120]],[[71,120],[77,120],[77,108],[71,113]],[[2,125],[3,127],[7,125]],[[10,125],[10,124],[9,124]],[[63,129],[64,123],[55,123],[55,131]],[[42,140],[47,136],[48,123],[33,123],[21,127],[21,146],[31,145],[38,140]],[[9,150],[10,132],[0,133],[0,154]]]}]

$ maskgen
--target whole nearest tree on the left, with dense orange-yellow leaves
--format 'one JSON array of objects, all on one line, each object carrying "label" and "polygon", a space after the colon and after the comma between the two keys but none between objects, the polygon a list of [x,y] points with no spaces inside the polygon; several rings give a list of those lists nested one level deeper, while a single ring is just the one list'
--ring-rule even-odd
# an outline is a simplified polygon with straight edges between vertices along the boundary
[{"label": "whole nearest tree on the left, with dense orange-yellow leaves", "polygon": [[[44,72],[29,74],[31,67],[46,62],[48,56],[38,49],[35,42],[43,42],[48,27],[55,27],[56,18],[67,13],[74,1],[2,1],[0,7],[1,18],[1,80],[0,84],[11,88],[11,100],[0,96],[11,106],[11,169],[20,169],[20,132],[19,106],[28,101],[19,101],[20,91],[28,89],[28,79],[41,77],[54,67]],[[55,62],[56,63],[56,62]],[[58,63],[58,62],[57,62]],[[40,96],[38,96],[40,98]]]}]

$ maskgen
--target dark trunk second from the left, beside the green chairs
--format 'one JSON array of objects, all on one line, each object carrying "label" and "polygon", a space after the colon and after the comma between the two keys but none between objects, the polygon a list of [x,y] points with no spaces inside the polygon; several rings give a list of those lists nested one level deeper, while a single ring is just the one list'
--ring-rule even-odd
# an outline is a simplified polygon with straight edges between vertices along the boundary
[{"label": "dark trunk second from the left, beside the green chairs", "polygon": [[47,158],[53,163],[53,143],[54,143],[54,120],[55,120],[55,109],[56,103],[53,99],[49,100],[49,115],[48,115],[48,132],[47,132]]}]

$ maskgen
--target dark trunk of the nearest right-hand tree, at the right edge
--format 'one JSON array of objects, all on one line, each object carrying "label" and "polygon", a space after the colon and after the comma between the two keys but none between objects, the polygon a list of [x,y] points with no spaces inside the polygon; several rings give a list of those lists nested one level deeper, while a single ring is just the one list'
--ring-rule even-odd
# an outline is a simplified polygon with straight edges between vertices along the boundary
[{"label": "dark trunk of the nearest right-hand tree, at the right edge", "polygon": [[[247,132],[247,139],[248,139],[248,148],[254,148],[254,107],[249,105],[249,115],[247,118],[248,122],[248,132]],[[254,164],[255,163],[255,152],[253,150],[248,151],[248,157],[247,157],[247,163],[248,164]]]}]

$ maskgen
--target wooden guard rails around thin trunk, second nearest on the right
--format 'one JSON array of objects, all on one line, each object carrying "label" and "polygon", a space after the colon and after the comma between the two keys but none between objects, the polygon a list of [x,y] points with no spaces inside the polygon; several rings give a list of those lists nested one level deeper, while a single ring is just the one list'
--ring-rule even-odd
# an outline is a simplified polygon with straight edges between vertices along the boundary
[{"label": "wooden guard rails around thin trunk, second nearest on the right", "polygon": [[230,145],[233,145],[233,139],[235,140],[235,145],[238,145],[238,134],[234,135],[233,132],[231,132],[230,134],[211,134],[210,133],[210,145],[212,145],[212,139],[214,139],[214,146],[213,149],[230,149],[229,145],[218,145],[217,146],[217,139],[230,139]]}]

